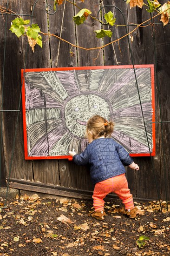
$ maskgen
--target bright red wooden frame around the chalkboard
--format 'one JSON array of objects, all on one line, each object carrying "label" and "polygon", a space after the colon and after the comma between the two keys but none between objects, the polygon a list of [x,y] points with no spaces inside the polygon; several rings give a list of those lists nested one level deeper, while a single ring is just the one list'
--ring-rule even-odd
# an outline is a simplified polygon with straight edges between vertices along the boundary
[{"label": "bright red wooden frame around the chalkboard", "polygon": [[[131,156],[155,156],[156,155],[156,136],[155,136],[155,87],[154,87],[154,65],[134,65],[135,68],[150,68],[151,78],[151,97],[152,97],[152,152],[151,153],[137,153],[130,154]],[[25,105],[25,79],[24,73],[26,72],[41,72],[41,71],[66,71],[66,70],[87,70],[87,69],[120,69],[120,68],[133,68],[133,65],[123,66],[94,66],[94,67],[53,67],[53,68],[33,68],[33,69],[21,69],[21,81],[22,81],[22,106],[23,106],[23,129],[24,129],[24,154],[26,160],[38,160],[38,159],[68,159],[72,160],[70,155],[58,155],[58,156],[28,156],[27,151],[27,134],[26,134],[26,105]]]}]

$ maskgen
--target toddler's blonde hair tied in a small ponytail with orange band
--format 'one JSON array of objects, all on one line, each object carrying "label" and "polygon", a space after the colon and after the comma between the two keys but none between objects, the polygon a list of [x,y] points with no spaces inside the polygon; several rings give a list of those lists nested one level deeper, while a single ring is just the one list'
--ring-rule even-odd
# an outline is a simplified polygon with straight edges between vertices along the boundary
[{"label": "toddler's blonde hair tied in a small ponytail with orange band", "polygon": [[114,123],[112,121],[108,122],[104,117],[94,115],[87,122],[86,136],[90,133],[93,140],[101,136],[111,137],[113,128]]}]

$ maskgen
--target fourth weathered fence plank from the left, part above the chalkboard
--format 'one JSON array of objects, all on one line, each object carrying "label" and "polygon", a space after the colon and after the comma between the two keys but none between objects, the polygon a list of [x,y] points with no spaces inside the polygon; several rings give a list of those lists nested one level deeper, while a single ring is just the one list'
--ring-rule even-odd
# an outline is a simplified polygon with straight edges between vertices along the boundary
[{"label": "fourth weathered fence plank from the left, part above the chalkboard", "polygon": [[[92,16],[97,17],[99,10],[99,0],[85,1],[85,3],[79,3],[80,8],[86,8],[92,11]],[[76,14],[79,9],[75,9]],[[84,24],[79,26],[76,25],[77,31],[77,43],[78,46],[84,48],[101,47],[102,40],[96,38],[94,30],[101,29],[101,24],[92,19],[90,16],[87,17]],[[103,50],[89,50],[85,51],[78,48],[78,66],[103,66]]]}]

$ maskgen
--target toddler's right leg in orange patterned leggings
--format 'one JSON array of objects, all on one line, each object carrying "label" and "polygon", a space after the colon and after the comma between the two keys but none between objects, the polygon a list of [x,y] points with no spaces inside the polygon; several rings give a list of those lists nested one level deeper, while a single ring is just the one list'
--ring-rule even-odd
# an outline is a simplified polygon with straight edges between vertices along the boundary
[{"label": "toddler's right leg in orange patterned leggings", "polygon": [[133,197],[128,188],[128,182],[124,174],[114,177],[114,190],[113,192],[118,195],[118,197],[124,203],[125,209],[133,209]]}]

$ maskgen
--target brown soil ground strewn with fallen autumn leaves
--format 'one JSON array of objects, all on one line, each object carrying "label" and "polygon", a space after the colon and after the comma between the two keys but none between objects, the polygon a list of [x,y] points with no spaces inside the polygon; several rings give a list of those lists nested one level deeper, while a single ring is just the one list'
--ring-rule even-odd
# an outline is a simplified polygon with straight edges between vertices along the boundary
[{"label": "brown soil ground strewn with fallen autumn leaves", "polygon": [[91,217],[92,200],[41,199],[34,194],[0,201],[0,256],[170,255],[170,204],[135,202],[136,219],[117,199],[104,221]]}]

